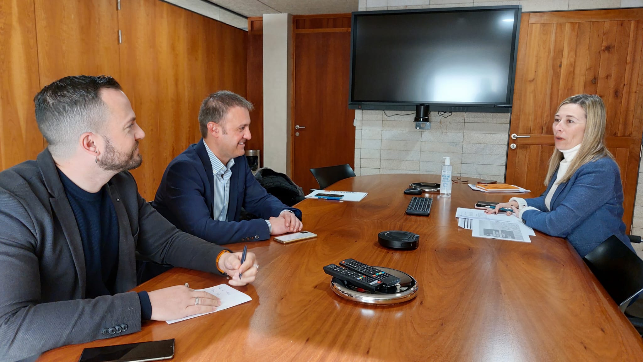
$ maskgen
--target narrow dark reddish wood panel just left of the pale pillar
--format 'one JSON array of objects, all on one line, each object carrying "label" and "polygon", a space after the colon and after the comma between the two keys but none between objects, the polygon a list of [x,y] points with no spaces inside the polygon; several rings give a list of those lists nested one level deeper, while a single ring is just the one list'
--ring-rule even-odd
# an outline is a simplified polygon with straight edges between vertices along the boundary
[{"label": "narrow dark reddish wood panel just left of the pale pillar", "polygon": [[255,105],[250,113],[252,139],[246,142],[246,150],[261,151],[264,165],[264,20],[248,18],[248,100]]}]

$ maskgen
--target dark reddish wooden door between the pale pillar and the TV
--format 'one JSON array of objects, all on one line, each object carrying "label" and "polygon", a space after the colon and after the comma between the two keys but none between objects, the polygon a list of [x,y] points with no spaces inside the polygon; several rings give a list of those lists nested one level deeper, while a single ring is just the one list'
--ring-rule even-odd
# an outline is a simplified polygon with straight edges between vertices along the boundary
[{"label": "dark reddish wooden door between the pale pillar and the TV", "polygon": [[[348,106],[350,14],[293,18],[292,176],[308,193],[319,187],[310,168],[354,167],[355,111]],[[296,130],[296,125],[305,129]]]}]

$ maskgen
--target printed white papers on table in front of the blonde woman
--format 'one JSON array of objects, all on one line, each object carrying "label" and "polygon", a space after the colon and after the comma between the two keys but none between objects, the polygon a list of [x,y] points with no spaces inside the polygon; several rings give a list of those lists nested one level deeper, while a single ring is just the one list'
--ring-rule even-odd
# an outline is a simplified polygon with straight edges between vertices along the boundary
[{"label": "printed white papers on table in front of the blonde woman", "polygon": [[480,209],[458,208],[455,217],[458,218],[458,226],[471,230],[474,237],[531,242],[529,235],[536,235],[534,229],[514,215],[487,215]]}]

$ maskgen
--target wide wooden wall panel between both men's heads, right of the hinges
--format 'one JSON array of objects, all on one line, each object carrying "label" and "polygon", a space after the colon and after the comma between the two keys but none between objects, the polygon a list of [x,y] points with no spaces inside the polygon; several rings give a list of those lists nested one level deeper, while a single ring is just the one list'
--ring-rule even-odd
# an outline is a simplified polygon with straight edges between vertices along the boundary
[{"label": "wide wooden wall panel between both men's heads, right of the hinges", "polygon": [[145,131],[132,174],[149,201],[170,161],[201,139],[203,99],[246,95],[246,32],[158,0],[121,1],[118,17],[121,84]]}]

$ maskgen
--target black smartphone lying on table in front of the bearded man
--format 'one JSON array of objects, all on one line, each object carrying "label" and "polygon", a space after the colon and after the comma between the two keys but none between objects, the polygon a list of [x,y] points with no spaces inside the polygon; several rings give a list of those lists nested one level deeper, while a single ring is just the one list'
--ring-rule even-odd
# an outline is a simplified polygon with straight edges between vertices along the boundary
[{"label": "black smartphone lying on table in front of the bearded man", "polygon": [[162,341],[129,343],[85,348],[78,362],[143,362],[174,357],[174,338]]}]

